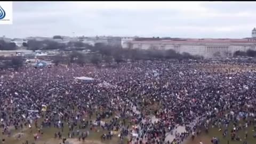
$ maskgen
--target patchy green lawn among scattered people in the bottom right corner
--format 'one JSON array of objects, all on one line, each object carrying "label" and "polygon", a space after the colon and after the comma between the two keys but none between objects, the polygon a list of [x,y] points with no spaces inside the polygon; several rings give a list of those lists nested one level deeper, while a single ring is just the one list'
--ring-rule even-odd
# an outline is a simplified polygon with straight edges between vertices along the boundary
[{"label": "patchy green lawn among scattered people in the bottom right corner", "polygon": [[[243,123],[243,122],[241,122]],[[228,134],[226,136],[226,138],[223,138],[222,133],[225,130],[225,128],[222,126],[222,131],[219,131],[219,129],[217,127],[214,128],[210,128],[209,129],[209,133],[206,134],[204,131],[202,131],[201,135],[199,135],[198,137],[195,137],[194,141],[191,140],[191,137],[188,138],[188,140],[185,142],[186,144],[198,144],[200,141],[202,141],[204,144],[210,144],[211,143],[211,139],[213,137],[217,137],[220,140],[220,144],[227,144],[228,140],[230,144],[243,144],[244,140],[245,140],[245,132],[247,131],[248,135],[247,135],[247,143],[248,144],[254,144],[256,143],[256,138],[253,138],[253,125],[248,126],[247,129],[244,128],[243,130],[239,130],[236,135],[239,135],[240,139],[242,139],[242,141],[231,141],[231,129],[233,129],[233,123],[229,124],[228,127]]]}]

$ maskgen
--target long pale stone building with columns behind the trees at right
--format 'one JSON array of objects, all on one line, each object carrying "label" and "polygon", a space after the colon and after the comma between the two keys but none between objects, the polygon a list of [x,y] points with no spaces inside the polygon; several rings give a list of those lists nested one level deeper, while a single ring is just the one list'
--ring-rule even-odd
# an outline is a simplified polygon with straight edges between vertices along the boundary
[{"label": "long pale stone building with columns behind the trees at right", "polygon": [[204,58],[231,57],[236,51],[256,50],[256,29],[252,30],[251,38],[170,38],[136,41],[126,41],[124,48],[132,49],[158,49],[175,50],[176,52],[187,52],[192,55],[201,55]]}]

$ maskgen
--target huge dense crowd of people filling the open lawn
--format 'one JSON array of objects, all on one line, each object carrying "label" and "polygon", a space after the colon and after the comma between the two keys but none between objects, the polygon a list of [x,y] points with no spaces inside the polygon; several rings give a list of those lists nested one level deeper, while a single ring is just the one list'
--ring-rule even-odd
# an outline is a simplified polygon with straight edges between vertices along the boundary
[{"label": "huge dense crowd of people filling the open lawn", "polygon": [[[248,69],[229,70],[223,64]],[[213,65],[217,68],[208,68]],[[181,143],[200,133],[198,127],[207,131],[209,121],[219,126],[237,116],[255,115],[253,67],[251,60],[226,59],[148,60],[118,63],[116,68],[74,64],[5,69],[0,72],[2,134],[11,135],[11,127],[36,127],[36,140],[42,129],[57,127],[59,132],[52,137],[65,142],[66,138],[85,140],[95,126],[101,126],[108,131],[101,135],[102,141],[118,131],[121,141],[128,138],[131,143]],[[81,76],[94,80],[75,78]],[[106,118],[111,121],[103,122]],[[248,124],[256,123],[253,119]],[[186,132],[174,132],[176,138],[166,140],[178,125]]]}]

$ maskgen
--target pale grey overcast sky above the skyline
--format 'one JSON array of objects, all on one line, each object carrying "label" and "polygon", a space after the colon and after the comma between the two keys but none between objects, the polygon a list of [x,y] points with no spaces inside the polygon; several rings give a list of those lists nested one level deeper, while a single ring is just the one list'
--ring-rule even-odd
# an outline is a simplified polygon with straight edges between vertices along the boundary
[{"label": "pale grey overcast sky above the skyline", "polygon": [[0,35],[244,38],[256,27],[255,4],[13,2],[13,25],[0,25]]}]

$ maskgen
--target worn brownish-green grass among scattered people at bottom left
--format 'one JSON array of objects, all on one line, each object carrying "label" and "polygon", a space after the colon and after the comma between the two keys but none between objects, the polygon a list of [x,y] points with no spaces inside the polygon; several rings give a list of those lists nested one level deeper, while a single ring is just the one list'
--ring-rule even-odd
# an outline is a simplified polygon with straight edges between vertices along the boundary
[{"label": "worn brownish-green grass among scattered people at bottom left", "polygon": [[[92,117],[92,119],[95,119],[94,116]],[[108,119],[103,119],[103,121],[109,122],[111,118]],[[43,121],[43,119],[38,119],[38,126],[41,125],[41,122]],[[15,135],[18,135],[18,133],[21,133],[21,130],[11,130],[11,137],[7,137],[7,135],[2,135],[2,132],[0,133],[0,144],[2,144],[2,139],[5,139],[5,143],[7,144],[22,144],[23,142],[25,143],[26,140],[28,140],[29,143],[35,142],[36,144],[52,144],[52,143],[57,143],[59,144],[60,142],[62,142],[62,139],[54,139],[54,133],[55,132],[61,132],[61,129],[58,128],[54,128],[52,127],[47,127],[47,128],[43,128],[42,132],[43,134],[39,135],[39,139],[38,140],[34,140],[34,133],[38,133],[38,129],[36,129],[34,124],[31,124],[32,128],[32,132],[30,132],[30,129],[28,129],[28,127],[26,127],[25,129],[23,129],[23,133],[20,139],[18,139],[18,137],[15,137]],[[90,126],[87,129],[82,129],[79,130],[80,132],[86,132],[89,131],[89,136],[85,139],[87,142],[81,142],[81,144],[84,143],[103,143],[103,144],[110,144],[110,143],[118,143],[120,140],[118,138],[118,134],[119,132],[114,132],[114,137],[111,140],[105,140],[105,141],[101,141],[100,136],[104,133],[108,133],[107,130],[103,130],[101,127],[95,127],[95,130],[90,130]],[[116,133],[116,134],[115,134]],[[62,138],[68,138],[68,125],[67,123],[65,123],[64,126],[64,130],[63,132],[61,132],[62,134]],[[78,140],[78,137],[75,137],[73,139],[74,140]],[[81,139],[82,141],[82,139]],[[88,142],[90,141],[90,142]],[[124,140],[124,143],[127,142],[127,139]]]}]

